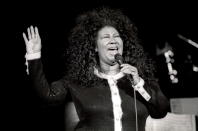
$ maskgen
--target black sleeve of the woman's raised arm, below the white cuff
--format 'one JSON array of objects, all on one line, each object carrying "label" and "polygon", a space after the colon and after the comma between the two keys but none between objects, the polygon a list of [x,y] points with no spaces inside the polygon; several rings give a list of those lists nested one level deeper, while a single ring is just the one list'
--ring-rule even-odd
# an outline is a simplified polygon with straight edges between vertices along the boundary
[{"label": "black sleeve of the woman's raised arm, below the white cuff", "polygon": [[62,102],[65,100],[69,86],[65,79],[48,83],[43,72],[41,59],[28,60],[28,65],[30,80],[40,97],[47,102]]}]

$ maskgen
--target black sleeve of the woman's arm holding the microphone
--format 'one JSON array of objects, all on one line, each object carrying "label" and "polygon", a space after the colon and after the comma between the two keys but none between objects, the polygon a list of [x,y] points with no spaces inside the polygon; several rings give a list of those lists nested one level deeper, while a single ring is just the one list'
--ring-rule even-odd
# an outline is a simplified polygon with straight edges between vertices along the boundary
[{"label": "black sleeve of the woman's arm holding the microphone", "polygon": [[167,112],[170,109],[170,102],[163,94],[156,81],[151,82],[151,84],[149,85],[150,86],[148,86],[148,84],[145,84],[146,90],[151,96],[151,99],[148,102],[146,102],[149,115],[152,118],[156,119],[163,118],[166,116]]}]

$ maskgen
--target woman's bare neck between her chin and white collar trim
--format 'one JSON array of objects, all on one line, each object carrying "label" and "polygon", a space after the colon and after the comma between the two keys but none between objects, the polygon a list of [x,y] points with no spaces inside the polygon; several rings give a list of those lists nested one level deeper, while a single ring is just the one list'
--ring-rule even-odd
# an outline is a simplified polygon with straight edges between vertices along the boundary
[{"label": "woman's bare neck between her chin and white collar trim", "polygon": [[100,71],[107,75],[116,75],[120,72],[119,65],[108,65],[105,63],[100,63]]}]

